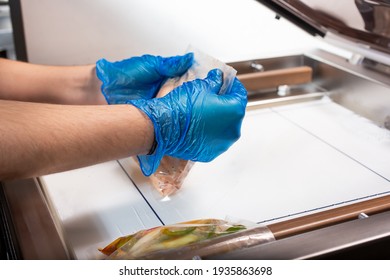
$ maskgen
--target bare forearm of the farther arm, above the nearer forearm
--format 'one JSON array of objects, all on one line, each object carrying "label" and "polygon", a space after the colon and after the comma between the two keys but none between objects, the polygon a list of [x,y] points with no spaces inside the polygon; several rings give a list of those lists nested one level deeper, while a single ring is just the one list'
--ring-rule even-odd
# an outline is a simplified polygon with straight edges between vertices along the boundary
[{"label": "bare forearm of the farther arm, above the nearer forearm", "polygon": [[0,59],[0,99],[106,104],[95,65],[47,66]]}]

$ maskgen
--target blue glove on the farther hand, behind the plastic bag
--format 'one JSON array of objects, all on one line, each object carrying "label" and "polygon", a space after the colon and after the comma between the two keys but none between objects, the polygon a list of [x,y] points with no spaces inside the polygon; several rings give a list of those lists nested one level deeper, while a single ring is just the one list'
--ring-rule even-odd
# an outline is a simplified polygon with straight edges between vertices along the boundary
[{"label": "blue glove on the farther hand, behind the plastic bag", "polygon": [[184,74],[193,57],[193,53],[188,53],[173,57],[143,55],[118,62],[100,59],[96,62],[96,75],[103,82],[101,90],[108,104],[150,99],[167,78]]}]

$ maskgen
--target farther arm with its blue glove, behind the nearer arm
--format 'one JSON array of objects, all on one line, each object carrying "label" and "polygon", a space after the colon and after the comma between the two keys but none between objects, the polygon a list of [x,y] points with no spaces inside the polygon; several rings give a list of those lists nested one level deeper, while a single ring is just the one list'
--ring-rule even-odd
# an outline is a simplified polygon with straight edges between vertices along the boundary
[{"label": "farther arm with its blue glove, behind the nearer arm", "polygon": [[[182,75],[193,54],[143,55],[117,62],[52,66],[0,58],[0,99],[56,104],[123,104],[155,97],[167,78]],[[103,93],[103,94],[102,94]]]}]

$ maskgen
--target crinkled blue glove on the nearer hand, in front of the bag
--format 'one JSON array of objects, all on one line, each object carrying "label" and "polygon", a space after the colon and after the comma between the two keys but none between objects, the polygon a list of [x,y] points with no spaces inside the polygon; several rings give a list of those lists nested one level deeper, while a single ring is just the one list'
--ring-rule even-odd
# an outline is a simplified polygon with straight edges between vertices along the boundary
[{"label": "crinkled blue glove on the nearer hand, in front of the bag", "polygon": [[229,92],[219,95],[222,71],[186,82],[166,96],[130,100],[153,122],[157,147],[151,155],[139,155],[144,175],[153,174],[164,155],[209,162],[225,152],[241,134],[247,92],[235,78]]}]

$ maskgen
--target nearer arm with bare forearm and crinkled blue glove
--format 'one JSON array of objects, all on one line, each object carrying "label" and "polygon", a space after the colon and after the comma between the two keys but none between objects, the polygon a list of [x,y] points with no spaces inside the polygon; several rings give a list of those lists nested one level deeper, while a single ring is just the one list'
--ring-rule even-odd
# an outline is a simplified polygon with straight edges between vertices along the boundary
[{"label": "nearer arm with bare forearm and crinkled blue glove", "polygon": [[235,80],[230,93],[218,96],[221,85],[222,73],[213,71],[161,99],[128,101],[139,110],[130,105],[64,106],[0,98],[0,180],[132,155],[147,157],[155,134],[158,145],[152,157],[158,156],[148,175],[165,154],[210,161],[239,138],[245,113],[242,84]]}]

